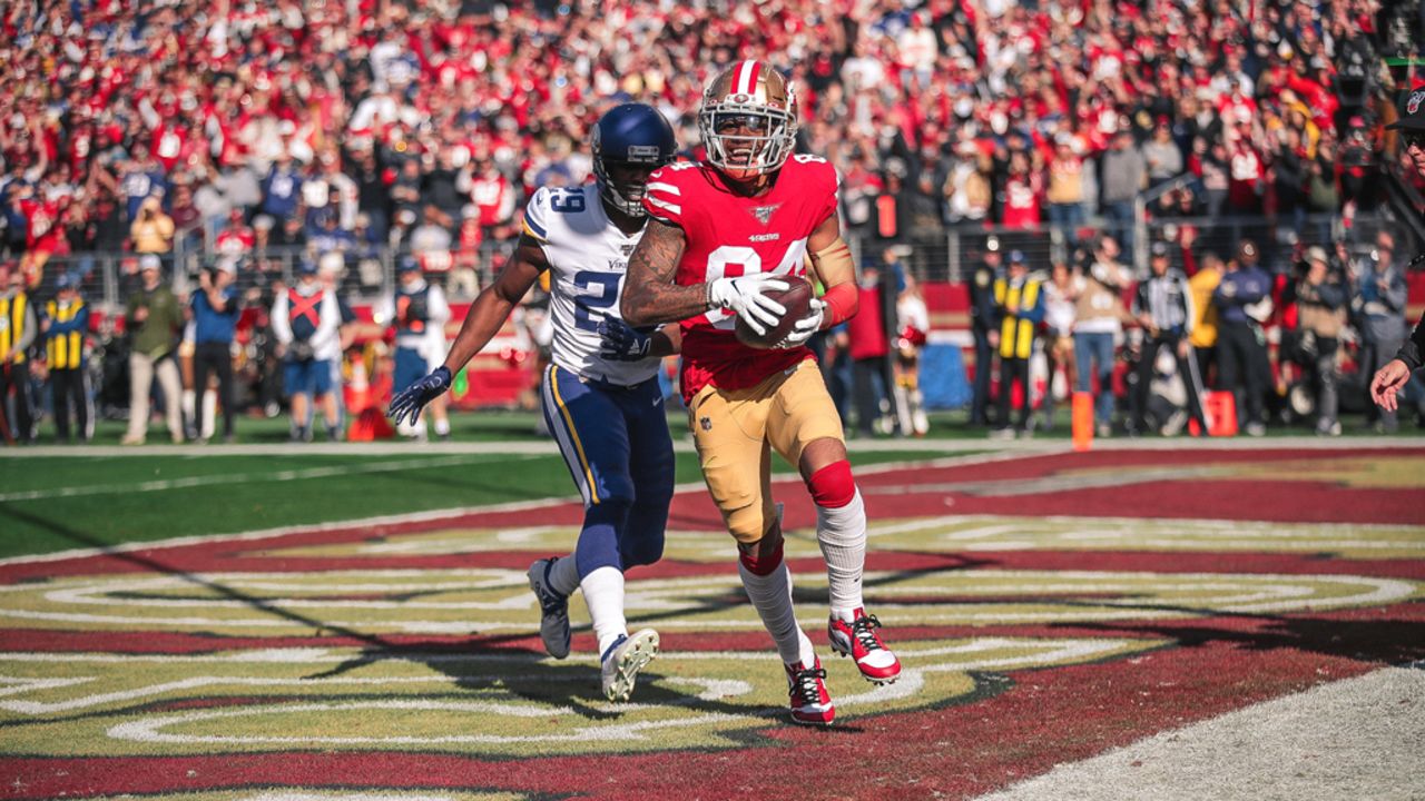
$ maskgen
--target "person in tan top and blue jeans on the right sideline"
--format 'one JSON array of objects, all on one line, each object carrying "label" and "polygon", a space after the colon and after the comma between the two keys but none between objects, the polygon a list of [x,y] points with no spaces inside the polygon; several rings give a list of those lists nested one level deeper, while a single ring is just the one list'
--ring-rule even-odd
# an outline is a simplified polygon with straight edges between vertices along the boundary
[{"label": "person in tan top and blue jeans on the right sideline", "polygon": [[1133,319],[1123,308],[1121,296],[1129,281],[1129,269],[1119,264],[1117,241],[1100,237],[1083,275],[1073,324],[1079,392],[1097,391],[1093,418],[1099,436],[1113,433],[1113,353],[1123,336],[1123,324]]}]

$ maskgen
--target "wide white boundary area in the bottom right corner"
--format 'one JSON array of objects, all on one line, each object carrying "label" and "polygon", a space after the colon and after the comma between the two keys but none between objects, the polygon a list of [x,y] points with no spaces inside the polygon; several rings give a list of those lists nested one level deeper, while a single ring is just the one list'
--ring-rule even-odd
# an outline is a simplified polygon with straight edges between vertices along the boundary
[{"label": "wide white boundary area in the bottom right corner", "polygon": [[979,801],[1422,798],[1425,670],[1389,667],[1164,731]]}]

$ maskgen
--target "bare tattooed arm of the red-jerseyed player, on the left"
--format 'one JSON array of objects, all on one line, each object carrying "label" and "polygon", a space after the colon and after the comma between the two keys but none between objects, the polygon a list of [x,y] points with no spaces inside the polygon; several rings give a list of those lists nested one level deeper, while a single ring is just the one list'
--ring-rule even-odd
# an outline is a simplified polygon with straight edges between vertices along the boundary
[{"label": "bare tattooed arm of the red-jerseyed player, on the left", "polygon": [[707,285],[673,282],[687,238],[677,225],[648,221],[643,239],[628,257],[620,311],[628,325],[654,325],[697,316],[707,311]]}]

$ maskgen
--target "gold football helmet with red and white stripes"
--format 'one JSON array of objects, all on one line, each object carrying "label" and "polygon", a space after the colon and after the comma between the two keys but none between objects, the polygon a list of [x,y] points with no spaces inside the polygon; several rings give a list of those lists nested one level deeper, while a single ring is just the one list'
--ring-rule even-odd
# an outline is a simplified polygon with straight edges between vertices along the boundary
[{"label": "gold football helmet with red and white stripes", "polygon": [[775,172],[797,147],[797,94],[765,61],[738,61],[703,93],[698,131],[708,164],[730,178]]}]

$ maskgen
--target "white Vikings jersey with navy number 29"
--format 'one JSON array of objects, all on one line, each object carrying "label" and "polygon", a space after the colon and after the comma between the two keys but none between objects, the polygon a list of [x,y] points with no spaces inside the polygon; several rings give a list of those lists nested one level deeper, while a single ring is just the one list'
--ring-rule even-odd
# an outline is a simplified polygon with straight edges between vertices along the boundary
[{"label": "white Vikings jersey with navy number 29", "polygon": [[554,363],[623,386],[653,378],[657,358],[616,362],[598,355],[598,322],[621,319],[618,294],[643,231],[620,231],[604,214],[598,185],[584,184],[536,191],[524,208],[524,232],[540,244],[550,265]]}]

